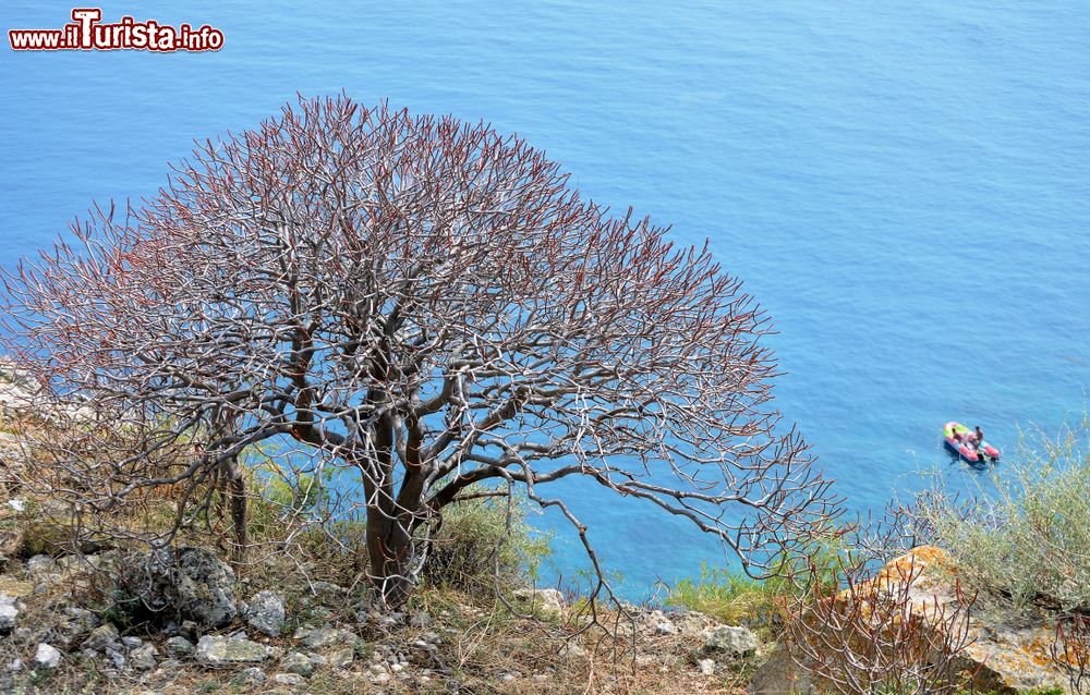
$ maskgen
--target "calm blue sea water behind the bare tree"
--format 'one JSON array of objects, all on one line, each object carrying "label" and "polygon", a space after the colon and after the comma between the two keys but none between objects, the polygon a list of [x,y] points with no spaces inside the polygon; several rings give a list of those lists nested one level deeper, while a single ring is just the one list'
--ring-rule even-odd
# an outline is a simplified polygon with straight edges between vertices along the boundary
[{"label": "calm blue sea water behind the bare tree", "polygon": [[[107,21],[208,23],[226,45],[0,47],[0,264],[92,200],[154,193],[192,138],[343,89],[491,121],[594,199],[710,239],[773,317],[776,403],[853,510],[921,488],[921,470],[971,487],[940,450],[947,419],[1009,446],[1082,409],[1081,0],[100,4]],[[59,27],[71,9],[5,0],[0,28]],[[728,562],[681,521],[565,492],[630,596]],[[585,565],[571,534],[556,548],[556,572]]]}]

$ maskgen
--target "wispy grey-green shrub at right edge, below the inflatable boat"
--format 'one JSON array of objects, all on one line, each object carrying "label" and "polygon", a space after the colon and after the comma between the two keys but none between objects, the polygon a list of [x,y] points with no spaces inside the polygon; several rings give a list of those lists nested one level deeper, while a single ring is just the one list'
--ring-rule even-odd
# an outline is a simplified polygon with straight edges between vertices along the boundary
[{"label": "wispy grey-green shrub at right edge, below the inflatable boat", "polygon": [[1079,430],[1019,443],[994,491],[958,504],[940,491],[920,514],[962,580],[1015,606],[1090,608],[1090,453]]}]

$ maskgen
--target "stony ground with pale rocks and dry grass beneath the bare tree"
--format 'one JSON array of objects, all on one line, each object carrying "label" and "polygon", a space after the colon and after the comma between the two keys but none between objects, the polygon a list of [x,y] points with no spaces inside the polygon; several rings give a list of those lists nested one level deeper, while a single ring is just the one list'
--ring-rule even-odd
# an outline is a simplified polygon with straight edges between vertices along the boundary
[{"label": "stony ground with pale rocks and dry grass beneath the bare tree", "polygon": [[435,592],[409,610],[384,613],[324,582],[293,592],[247,587],[208,550],[183,548],[174,559],[167,582],[168,573],[156,573],[165,566],[160,558],[142,558],[152,569],[141,578],[140,598],[174,617],[161,624],[119,615],[117,607],[97,610],[88,600],[104,573],[126,566],[114,552],[9,559],[0,575],[0,687],[728,693],[741,690],[760,649],[744,627],[640,607],[610,625],[619,638],[600,631],[568,638],[577,625],[555,589],[521,593],[520,607],[533,618]]}]

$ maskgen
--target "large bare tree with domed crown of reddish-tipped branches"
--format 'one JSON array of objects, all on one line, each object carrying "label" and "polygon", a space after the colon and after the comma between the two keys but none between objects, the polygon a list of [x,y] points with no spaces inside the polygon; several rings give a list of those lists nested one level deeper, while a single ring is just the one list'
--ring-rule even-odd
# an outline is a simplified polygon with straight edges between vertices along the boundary
[{"label": "large bare tree with domed crown of reddish-tipped branches", "polygon": [[755,575],[831,513],[768,405],[767,324],[741,283],[706,246],[582,200],[516,137],[300,99],[198,145],[118,217],[96,210],[5,277],[9,353],[125,442],[94,466],[86,442],[44,442],[52,492],[82,509],[180,486],[181,525],[218,485],[244,527],[239,455],[279,442],[308,471],[356,472],[390,605],[443,509],[489,480],[559,508],[595,569],[545,484],[683,516]]}]

